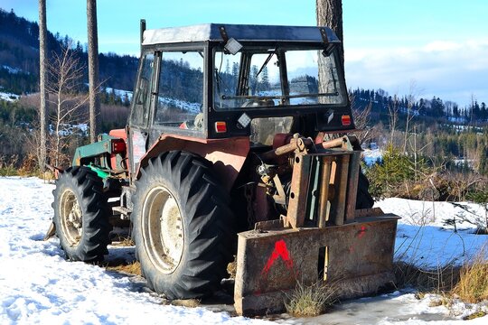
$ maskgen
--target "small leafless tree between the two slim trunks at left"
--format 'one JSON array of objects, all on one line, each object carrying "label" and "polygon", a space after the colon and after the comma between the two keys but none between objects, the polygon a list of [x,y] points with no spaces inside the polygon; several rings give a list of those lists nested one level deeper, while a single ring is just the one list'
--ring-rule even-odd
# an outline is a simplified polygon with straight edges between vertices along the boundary
[{"label": "small leafless tree between the two slim trunks at left", "polygon": [[86,114],[81,107],[89,100],[89,95],[80,92],[85,66],[80,65],[76,52],[68,43],[61,48],[61,53],[52,53],[48,65],[50,82],[47,88],[52,95],[50,101],[55,107],[51,116],[53,125],[53,160],[56,166],[61,163],[64,149],[70,144],[72,124],[86,121]]}]

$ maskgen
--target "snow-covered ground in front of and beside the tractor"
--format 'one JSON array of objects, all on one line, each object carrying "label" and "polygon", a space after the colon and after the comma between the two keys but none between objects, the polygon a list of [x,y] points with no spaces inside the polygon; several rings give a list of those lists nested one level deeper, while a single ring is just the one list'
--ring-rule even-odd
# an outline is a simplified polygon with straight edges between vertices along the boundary
[{"label": "snow-covered ground in front of and beside the tractor", "polygon": [[[145,289],[144,280],[104,268],[67,262],[52,238],[42,237],[52,218],[52,184],[36,178],[0,178],[0,323],[1,324],[249,324],[264,323],[231,317],[212,308],[164,305]],[[377,206],[403,217],[399,222],[397,257],[419,266],[463,263],[485,245],[488,237],[473,234],[474,226],[462,218],[484,218],[484,209],[467,210],[451,203],[388,199]],[[472,213],[473,212],[473,213]],[[443,220],[456,218],[454,226]],[[110,247],[110,252],[115,248]],[[311,319],[284,315],[277,322],[334,324],[424,324],[462,322],[474,311],[488,311],[488,303],[456,302],[450,309],[431,307],[436,297],[421,300],[412,292],[394,292],[375,298],[345,302],[330,314]],[[484,324],[488,316],[469,320]]]}]

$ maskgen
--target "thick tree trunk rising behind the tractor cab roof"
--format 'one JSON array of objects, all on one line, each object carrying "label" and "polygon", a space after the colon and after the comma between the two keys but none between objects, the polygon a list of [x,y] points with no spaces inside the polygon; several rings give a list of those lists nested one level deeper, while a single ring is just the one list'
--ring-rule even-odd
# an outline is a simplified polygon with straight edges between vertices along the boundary
[{"label": "thick tree trunk rising behind the tractor cab roof", "polygon": [[343,0],[316,0],[317,26],[327,26],[341,40],[341,56],[344,65]]}]

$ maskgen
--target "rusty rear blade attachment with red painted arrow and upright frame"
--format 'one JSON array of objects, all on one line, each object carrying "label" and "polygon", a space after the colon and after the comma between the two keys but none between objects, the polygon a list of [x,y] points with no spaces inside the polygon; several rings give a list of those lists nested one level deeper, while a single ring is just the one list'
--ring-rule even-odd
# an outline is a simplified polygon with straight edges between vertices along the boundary
[{"label": "rusty rear blade attachment with red painted arrow and upright frame", "polygon": [[296,283],[322,280],[337,298],[394,282],[397,216],[356,210],[359,152],[297,153],[286,216],[239,233],[234,292],[241,315],[279,312]]}]

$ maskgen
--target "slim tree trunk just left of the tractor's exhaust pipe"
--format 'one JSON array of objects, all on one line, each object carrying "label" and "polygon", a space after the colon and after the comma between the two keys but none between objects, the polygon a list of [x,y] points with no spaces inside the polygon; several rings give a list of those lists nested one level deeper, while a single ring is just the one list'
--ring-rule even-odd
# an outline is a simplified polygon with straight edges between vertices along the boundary
[{"label": "slim tree trunk just left of the tractor's exhaust pipe", "polygon": [[100,131],[99,103],[99,36],[97,31],[97,0],[87,0],[89,42],[89,140],[97,141]]}]

